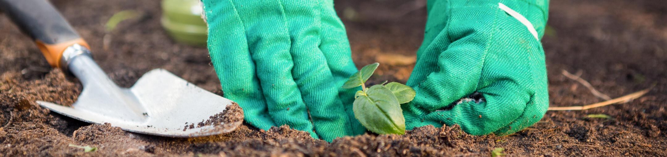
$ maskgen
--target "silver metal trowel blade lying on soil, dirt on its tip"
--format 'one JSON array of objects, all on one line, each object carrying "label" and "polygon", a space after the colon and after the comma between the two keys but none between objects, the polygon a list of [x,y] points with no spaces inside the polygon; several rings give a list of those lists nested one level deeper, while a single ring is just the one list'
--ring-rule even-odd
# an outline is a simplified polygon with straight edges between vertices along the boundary
[{"label": "silver metal trowel blade lying on soil, dirt on its tip", "polygon": [[[107,78],[108,79],[108,78]],[[87,81],[71,107],[37,101],[54,112],[96,124],[109,123],[123,130],[171,137],[209,136],[231,132],[241,124],[197,126],[221,114],[233,102],[190,84],[164,69],[154,69],[131,88]],[[105,81],[100,81],[105,82]],[[115,84],[113,84],[115,86]]]}]

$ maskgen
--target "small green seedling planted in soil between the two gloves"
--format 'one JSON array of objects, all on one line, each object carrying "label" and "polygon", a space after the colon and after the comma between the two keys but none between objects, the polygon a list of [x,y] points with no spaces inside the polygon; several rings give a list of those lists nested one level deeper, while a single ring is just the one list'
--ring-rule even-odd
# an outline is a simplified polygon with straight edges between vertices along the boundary
[{"label": "small green seedling planted in soil between the two gloves", "polygon": [[412,101],[416,92],[405,84],[398,82],[384,84],[386,81],[366,88],[366,80],[378,69],[378,65],[380,63],[366,65],[343,84],[343,88],[362,86],[362,90],[354,95],[352,106],[354,117],[372,132],[405,134],[406,119],[401,104]]}]

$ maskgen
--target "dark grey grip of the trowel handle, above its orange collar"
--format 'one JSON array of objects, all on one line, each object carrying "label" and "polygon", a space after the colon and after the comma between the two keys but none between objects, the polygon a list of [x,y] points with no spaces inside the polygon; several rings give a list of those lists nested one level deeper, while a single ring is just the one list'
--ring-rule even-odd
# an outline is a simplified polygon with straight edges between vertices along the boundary
[{"label": "dark grey grip of the trowel handle, above its orange collar", "polygon": [[46,0],[0,0],[0,9],[35,41],[55,45],[80,38]]}]

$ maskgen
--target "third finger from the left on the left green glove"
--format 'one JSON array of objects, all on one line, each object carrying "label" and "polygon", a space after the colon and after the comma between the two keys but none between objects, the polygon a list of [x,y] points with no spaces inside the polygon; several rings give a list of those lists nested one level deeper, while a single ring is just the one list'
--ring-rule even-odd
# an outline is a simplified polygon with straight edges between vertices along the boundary
[{"label": "third finger from the left on the left green glove", "polygon": [[294,60],[292,75],[310,112],[315,132],[329,142],[352,134],[350,119],[338,99],[340,86],[332,83],[327,60],[318,47],[319,2],[286,0],[285,3],[292,4],[285,5]]}]

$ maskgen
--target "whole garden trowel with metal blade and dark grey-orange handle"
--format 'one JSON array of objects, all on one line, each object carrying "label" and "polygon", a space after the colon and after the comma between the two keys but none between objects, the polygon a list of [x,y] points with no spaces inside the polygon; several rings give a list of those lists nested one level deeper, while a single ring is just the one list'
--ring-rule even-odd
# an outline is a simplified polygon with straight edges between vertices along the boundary
[{"label": "whole garden trowel with metal blade and dark grey-orange handle", "polygon": [[117,86],[93,61],[88,44],[46,0],[0,0],[0,9],[35,40],[52,67],[83,84],[71,106],[37,101],[43,107],[85,122],[171,137],[231,132],[243,120],[223,117],[225,108],[235,104],[231,100],[163,69],[149,71],[131,88]]}]

